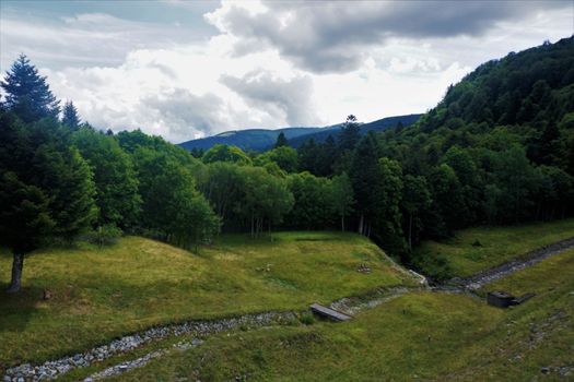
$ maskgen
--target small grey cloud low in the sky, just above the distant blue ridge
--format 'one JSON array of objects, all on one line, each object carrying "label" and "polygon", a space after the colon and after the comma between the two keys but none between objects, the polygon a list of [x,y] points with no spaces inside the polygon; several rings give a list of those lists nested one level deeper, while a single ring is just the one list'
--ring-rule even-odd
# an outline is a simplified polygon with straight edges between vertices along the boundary
[{"label": "small grey cloud low in the sky, just above the distant blue ridge", "polygon": [[221,82],[249,105],[265,110],[273,118],[284,119],[291,126],[319,120],[314,112],[313,81],[309,76],[282,80],[268,72],[254,71],[243,77],[223,75]]}]

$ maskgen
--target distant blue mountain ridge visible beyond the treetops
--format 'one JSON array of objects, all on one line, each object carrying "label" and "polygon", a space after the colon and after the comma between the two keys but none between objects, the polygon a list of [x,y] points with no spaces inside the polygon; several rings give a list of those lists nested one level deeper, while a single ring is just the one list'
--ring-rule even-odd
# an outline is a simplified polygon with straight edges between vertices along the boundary
[{"label": "distant blue mountain ridge visible beyond the treetops", "polygon": [[[361,132],[366,134],[368,131],[383,131],[388,128],[396,127],[399,122],[403,126],[414,123],[422,115],[407,115],[383,118],[373,122],[363,123],[361,126]],[[289,143],[293,147],[301,146],[306,140],[313,138],[315,142],[323,142],[329,135],[339,134],[339,130],[342,123],[333,124],[329,127],[293,127],[283,129],[246,129],[246,130],[231,130],[223,133],[201,138],[197,140],[190,140],[187,142],[179,143],[179,146],[191,151],[197,150],[209,150],[215,144],[234,145],[244,151],[265,151],[276,143],[277,136],[282,132],[289,140]]]}]

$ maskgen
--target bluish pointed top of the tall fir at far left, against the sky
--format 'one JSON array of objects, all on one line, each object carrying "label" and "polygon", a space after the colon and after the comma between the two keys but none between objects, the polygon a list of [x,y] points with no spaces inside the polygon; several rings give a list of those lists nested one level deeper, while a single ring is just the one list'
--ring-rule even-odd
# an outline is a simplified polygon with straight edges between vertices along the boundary
[{"label": "bluish pointed top of the tall fir at far left, against the sky", "polygon": [[30,63],[25,55],[14,61],[0,86],[5,92],[4,105],[25,122],[57,118],[59,100],[51,94],[46,77]]}]

